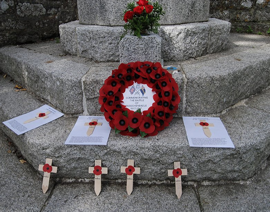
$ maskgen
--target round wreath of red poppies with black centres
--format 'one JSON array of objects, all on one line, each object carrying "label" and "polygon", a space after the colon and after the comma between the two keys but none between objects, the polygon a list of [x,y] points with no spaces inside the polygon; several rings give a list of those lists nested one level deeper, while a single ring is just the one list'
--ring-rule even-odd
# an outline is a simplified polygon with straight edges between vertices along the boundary
[{"label": "round wreath of red poppies with black centres", "polygon": [[[134,82],[146,84],[155,92],[148,110],[129,110],[123,104],[123,93]],[[154,136],[169,125],[178,109],[178,84],[160,63],[120,64],[99,90],[100,111],[116,133],[129,136]]]}]

